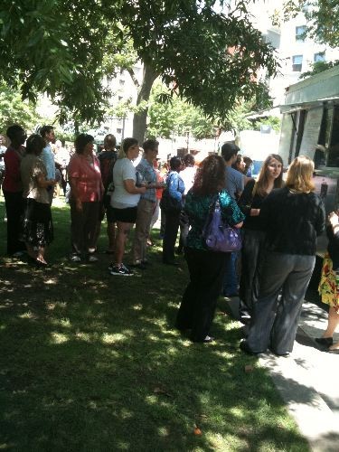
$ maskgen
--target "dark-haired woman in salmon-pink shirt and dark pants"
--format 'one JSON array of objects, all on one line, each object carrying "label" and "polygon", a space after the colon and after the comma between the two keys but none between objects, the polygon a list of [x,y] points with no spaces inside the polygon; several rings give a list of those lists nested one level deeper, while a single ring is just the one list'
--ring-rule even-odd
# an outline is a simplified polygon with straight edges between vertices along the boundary
[{"label": "dark-haired woman in salmon-pink shirt and dark pants", "polygon": [[94,138],[80,134],[76,138],[75,154],[72,155],[68,174],[71,185],[71,261],[98,260],[96,228],[99,218],[99,202],[104,187],[101,181],[98,158],[93,154]]}]

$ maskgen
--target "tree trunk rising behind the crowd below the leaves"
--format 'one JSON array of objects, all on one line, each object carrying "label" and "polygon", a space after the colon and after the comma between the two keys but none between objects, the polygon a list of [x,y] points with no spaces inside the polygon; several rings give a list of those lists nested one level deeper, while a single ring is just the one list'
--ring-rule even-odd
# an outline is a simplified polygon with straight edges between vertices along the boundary
[{"label": "tree trunk rising behind the crowd below the leaves", "polygon": [[[146,100],[146,102],[148,101],[155,79],[155,71],[145,63],[143,81],[137,94],[137,106],[140,105],[143,100]],[[140,145],[142,145],[145,140],[147,111],[148,107],[135,113],[133,118],[133,137],[137,138]]]}]

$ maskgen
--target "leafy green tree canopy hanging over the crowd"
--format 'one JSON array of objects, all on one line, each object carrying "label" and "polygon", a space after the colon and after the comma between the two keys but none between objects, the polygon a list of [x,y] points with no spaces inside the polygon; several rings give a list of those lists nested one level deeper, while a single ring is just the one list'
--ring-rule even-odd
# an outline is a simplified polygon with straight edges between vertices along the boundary
[{"label": "leafy green tree canopy hanging over the crowd", "polygon": [[[107,52],[132,46],[144,63],[149,95],[161,77],[170,89],[210,116],[225,117],[236,99],[260,90],[260,68],[276,70],[272,48],[250,22],[247,0],[227,14],[202,0],[3,0],[1,78],[24,98],[45,92],[83,120],[102,118]],[[222,2],[221,2],[222,3]],[[108,37],[113,45],[108,45]],[[110,41],[112,44],[112,41]]]}]

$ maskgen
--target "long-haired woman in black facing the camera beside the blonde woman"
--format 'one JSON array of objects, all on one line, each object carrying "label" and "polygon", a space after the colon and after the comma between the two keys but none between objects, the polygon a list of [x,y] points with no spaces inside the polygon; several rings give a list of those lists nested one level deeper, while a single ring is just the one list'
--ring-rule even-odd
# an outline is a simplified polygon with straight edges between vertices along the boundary
[{"label": "long-haired woman in black facing the camera beside the blonde woman", "polygon": [[246,215],[243,227],[240,277],[240,321],[250,323],[252,306],[259,295],[259,276],[263,263],[265,231],[259,217],[260,207],[266,196],[283,186],[283,161],[280,155],[269,154],[261,167],[258,181],[251,179],[245,185],[239,200]]}]

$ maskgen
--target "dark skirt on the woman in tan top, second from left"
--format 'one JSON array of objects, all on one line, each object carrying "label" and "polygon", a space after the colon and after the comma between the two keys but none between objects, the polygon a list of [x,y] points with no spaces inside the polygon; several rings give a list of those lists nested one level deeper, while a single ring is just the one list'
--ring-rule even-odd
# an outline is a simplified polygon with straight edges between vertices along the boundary
[{"label": "dark skirt on the woman in tan top, second from left", "polygon": [[45,247],[53,240],[50,204],[28,198],[24,208],[22,240],[33,247]]}]

